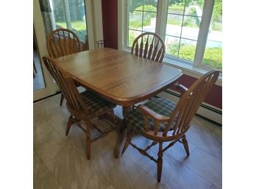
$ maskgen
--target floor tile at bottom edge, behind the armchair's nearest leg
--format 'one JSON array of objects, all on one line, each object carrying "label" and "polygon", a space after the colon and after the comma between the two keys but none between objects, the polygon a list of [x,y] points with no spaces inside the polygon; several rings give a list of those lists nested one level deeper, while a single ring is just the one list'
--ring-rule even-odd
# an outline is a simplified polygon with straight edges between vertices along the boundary
[{"label": "floor tile at bottom edge, behind the armchair's nearest leg", "polygon": [[[148,157],[143,157],[143,159],[138,161],[137,165],[152,175],[154,180],[157,181],[156,163],[154,163],[152,160],[149,160]],[[163,156],[161,183],[166,185],[166,187],[173,189],[206,189],[210,188],[212,185],[206,179],[203,179],[201,176],[186,168],[185,165],[182,165],[178,161],[168,156]]]}]

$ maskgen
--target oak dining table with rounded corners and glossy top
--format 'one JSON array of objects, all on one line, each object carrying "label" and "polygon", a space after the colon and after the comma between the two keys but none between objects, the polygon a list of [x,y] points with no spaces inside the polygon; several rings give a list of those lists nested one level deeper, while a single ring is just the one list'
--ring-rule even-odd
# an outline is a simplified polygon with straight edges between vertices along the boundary
[{"label": "oak dining table with rounded corners and glossy top", "polygon": [[56,60],[87,90],[122,106],[124,123],[133,104],[155,96],[182,76],[178,68],[110,48],[82,51]]}]

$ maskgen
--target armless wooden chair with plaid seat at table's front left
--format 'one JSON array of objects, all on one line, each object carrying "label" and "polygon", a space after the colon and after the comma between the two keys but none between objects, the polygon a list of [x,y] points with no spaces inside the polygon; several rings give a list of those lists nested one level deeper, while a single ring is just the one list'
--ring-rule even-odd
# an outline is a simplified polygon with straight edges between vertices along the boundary
[{"label": "armless wooden chair with plaid seat at table's front left", "polygon": [[[85,121],[86,129],[80,124],[77,124],[77,126],[79,126],[85,132],[86,156],[88,160],[90,160],[90,143],[106,136],[109,132],[119,127],[113,111],[113,108],[116,107],[116,104],[102,99],[101,97],[88,90],[83,93],[79,93],[77,86],[74,84],[73,79],[71,79],[71,76],[67,74],[53,58],[43,57],[43,63],[51,73],[51,76],[53,76],[57,82],[57,85],[67,100],[66,105],[68,111],[71,113],[68,119],[65,135],[68,135],[71,124],[74,124],[80,120]],[[117,126],[113,127],[112,129],[108,129],[107,131],[102,131],[102,129],[99,129],[95,124],[91,123],[93,118],[99,118],[106,114],[112,116],[113,121],[115,121]],[[90,129],[92,127],[100,132],[100,135],[93,139],[90,138]]]}]

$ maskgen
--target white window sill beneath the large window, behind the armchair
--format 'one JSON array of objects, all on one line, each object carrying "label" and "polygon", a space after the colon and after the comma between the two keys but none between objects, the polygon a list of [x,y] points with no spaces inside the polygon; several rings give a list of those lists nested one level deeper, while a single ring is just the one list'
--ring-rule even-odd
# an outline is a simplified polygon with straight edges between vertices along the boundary
[{"label": "white window sill beneath the large window, behind the armchair", "polygon": [[[209,71],[209,69],[207,69],[207,68],[195,67],[192,64],[184,63],[181,60],[174,60],[170,57],[164,57],[163,63],[166,65],[174,66],[175,68],[179,68],[183,71],[183,74],[188,75],[188,76],[193,76],[195,78],[199,78],[203,74],[207,73],[207,71]],[[222,74],[220,76],[218,76],[216,85],[222,86]]]}]

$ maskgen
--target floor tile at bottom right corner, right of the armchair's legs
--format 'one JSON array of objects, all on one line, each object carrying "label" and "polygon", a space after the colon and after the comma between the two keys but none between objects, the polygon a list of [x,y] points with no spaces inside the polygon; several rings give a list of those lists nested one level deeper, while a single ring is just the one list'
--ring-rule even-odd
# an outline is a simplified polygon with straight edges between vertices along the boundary
[{"label": "floor tile at bottom right corner, right of the armchair's legs", "polygon": [[221,188],[222,165],[221,160],[207,154],[205,151],[195,149],[182,164],[204,177],[214,185]]}]

